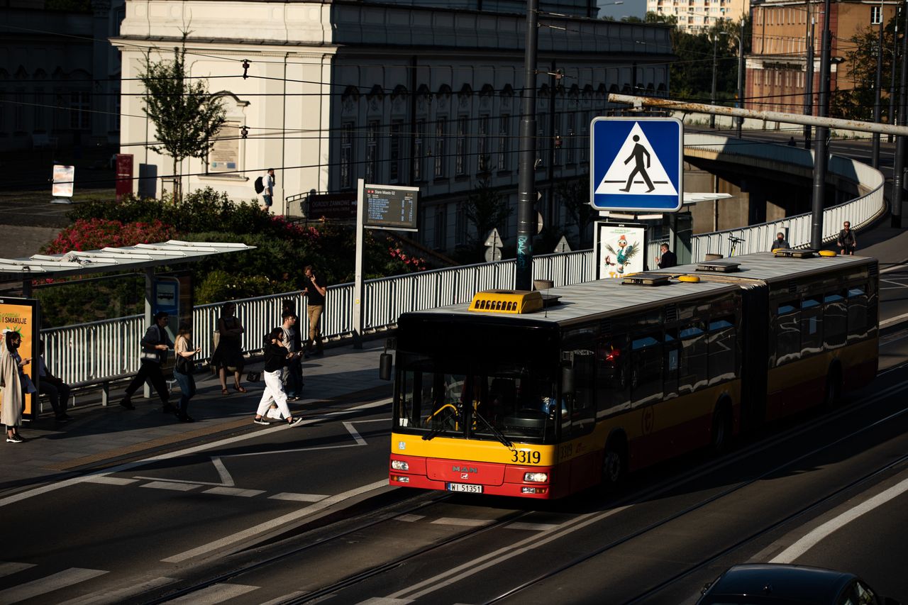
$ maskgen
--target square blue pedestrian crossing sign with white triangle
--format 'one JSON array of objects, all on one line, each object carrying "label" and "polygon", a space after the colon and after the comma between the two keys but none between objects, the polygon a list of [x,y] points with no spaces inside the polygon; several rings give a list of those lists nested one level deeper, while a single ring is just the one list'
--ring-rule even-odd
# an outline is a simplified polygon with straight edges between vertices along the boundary
[{"label": "square blue pedestrian crossing sign with white triangle", "polygon": [[589,203],[597,210],[676,212],[684,201],[684,124],[597,117],[590,126]]}]

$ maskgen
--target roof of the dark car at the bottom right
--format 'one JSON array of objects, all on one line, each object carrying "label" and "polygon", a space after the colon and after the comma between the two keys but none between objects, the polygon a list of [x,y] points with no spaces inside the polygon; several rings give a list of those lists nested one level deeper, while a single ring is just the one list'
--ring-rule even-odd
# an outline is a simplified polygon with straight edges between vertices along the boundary
[{"label": "roof of the dark car at the bottom right", "polygon": [[805,565],[755,563],[725,570],[706,594],[762,597],[763,602],[832,603],[856,576]]}]

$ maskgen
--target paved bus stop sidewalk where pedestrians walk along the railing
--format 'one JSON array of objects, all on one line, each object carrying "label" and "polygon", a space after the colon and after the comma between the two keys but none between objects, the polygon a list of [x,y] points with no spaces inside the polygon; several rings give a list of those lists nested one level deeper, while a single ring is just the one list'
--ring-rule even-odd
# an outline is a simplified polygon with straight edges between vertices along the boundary
[{"label": "paved bus stop sidewalk where pedestrians walk along the railing", "polygon": [[[366,342],[362,349],[351,345],[325,349],[323,356],[302,362],[306,386],[298,402],[290,402],[291,412],[303,418],[350,407],[359,402],[390,397],[391,383],[379,379],[379,355],[383,341]],[[214,441],[229,434],[267,430],[252,423],[262,397],[264,382],[245,382],[245,374],[261,371],[262,362],[247,366],[242,385],[247,393],[221,394],[216,375],[196,374],[198,392],[189,404],[196,422],[179,422],[173,414],[161,412],[161,402],[133,396],[135,410],[125,410],[118,402],[122,392],[111,392],[106,408],[84,402],[98,401],[97,392],[76,400],[67,413],[73,420],[57,425],[53,414],[44,413],[37,422],[25,422],[25,443],[6,443],[0,454],[0,494],[36,482],[55,481],[74,471],[110,466],[114,462],[141,459],[162,451],[181,449],[193,443]],[[232,387],[232,378],[228,379]],[[171,402],[179,400],[173,392]]]}]

